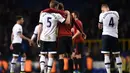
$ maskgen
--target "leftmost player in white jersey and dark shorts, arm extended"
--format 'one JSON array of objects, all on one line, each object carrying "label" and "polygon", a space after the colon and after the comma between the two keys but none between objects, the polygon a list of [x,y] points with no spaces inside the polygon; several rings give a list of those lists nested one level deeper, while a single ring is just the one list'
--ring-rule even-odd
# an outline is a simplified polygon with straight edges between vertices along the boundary
[{"label": "leftmost player in white jersey and dark shorts, arm extended", "polygon": [[11,69],[10,73],[14,73],[14,68],[17,63],[17,59],[19,54],[22,55],[21,57],[21,73],[24,73],[24,62],[26,60],[26,55],[24,54],[24,51],[22,50],[22,39],[28,40],[30,45],[32,44],[32,41],[25,37],[22,29],[22,24],[24,22],[24,19],[22,16],[17,16],[16,17],[16,24],[13,26],[12,29],[12,35],[11,35],[11,49],[13,50],[13,59],[11,61]]}]

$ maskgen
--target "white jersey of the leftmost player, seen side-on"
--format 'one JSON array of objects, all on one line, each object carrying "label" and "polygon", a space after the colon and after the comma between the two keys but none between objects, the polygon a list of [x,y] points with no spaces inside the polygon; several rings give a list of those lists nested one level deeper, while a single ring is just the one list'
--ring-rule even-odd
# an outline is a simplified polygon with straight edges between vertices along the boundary
[{"label": "white jersey of the leftmost player, seen side-on", "polygon": [[15,24],[12,29],[13,41],[12,43],[22,43],[22,38],[19,34],[23,32],[22,26],[20,24]]}]

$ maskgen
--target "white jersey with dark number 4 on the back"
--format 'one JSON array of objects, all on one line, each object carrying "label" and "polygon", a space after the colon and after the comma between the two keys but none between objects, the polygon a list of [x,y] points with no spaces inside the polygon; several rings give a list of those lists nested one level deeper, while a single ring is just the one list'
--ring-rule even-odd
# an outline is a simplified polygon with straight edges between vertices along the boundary
[{"label": "white jersey with dark number 4 on the back", "polygon": [[101,13],[99,22],[103,24],[102,35],[110,35],[118,38],[119,14],[116,11],[107,11]]}]

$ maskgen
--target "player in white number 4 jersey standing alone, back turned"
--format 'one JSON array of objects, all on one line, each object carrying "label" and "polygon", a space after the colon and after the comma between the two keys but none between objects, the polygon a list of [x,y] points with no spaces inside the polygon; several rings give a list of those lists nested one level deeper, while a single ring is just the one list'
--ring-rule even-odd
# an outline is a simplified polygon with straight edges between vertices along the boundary
[{"label": "player in white number 4 jersey standing alone, back turned", "polygon": [[109,11],[109,7],[103,4],[101,7],[102,13],[99,16],[99,29],[103,28],[102,32],[102,53],[104,54],[104,63],[107,73],[110,70],[110,53],[116,59],[116,64],[119,73],[122,73],[122,61],[120,57],[120,49],[118,47],[118,22],[119,14],[117,11]]}]

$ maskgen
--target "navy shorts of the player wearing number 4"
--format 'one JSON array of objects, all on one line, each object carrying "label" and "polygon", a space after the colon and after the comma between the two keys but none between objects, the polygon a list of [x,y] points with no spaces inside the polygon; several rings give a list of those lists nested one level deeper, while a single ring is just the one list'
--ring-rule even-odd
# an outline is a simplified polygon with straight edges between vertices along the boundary
[{"label": "navy shorts of the player wearing number 4", "polygon": [[118,47],[118,38],[102,35],[102,51],[101,53],[112,53],[120,54],[120,49]]}]

